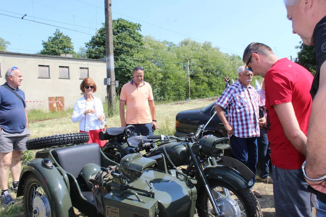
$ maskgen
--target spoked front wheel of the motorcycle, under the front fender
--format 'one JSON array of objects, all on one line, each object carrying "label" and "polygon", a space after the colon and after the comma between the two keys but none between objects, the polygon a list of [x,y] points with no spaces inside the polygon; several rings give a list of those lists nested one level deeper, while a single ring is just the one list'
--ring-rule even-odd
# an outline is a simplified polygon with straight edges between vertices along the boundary
[{"label": "spoked front wheel of the motorcycle, under the front fender", "polygon": [[[218,202],[223,205],[219,209],[224,212],[225,216],[231,217],[262,217],[262,211],[259,202],[249,188],[235,190],[224,182],[210,181],[209,185],[212,193]],[[233,194],[230,194],[230,191]],[[197,210],[200,217],[215,216],[213,206],[204,189],[200,190],[201,194],[197,200]]]}]

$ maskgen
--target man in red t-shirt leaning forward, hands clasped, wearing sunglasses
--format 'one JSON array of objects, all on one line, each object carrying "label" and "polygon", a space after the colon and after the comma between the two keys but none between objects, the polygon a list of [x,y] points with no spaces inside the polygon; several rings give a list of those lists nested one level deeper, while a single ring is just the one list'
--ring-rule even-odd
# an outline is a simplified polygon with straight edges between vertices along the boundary
[{"label": "man in red t-shirt leaning forward, hands clasped, wearing sunglasses", "polygon": [[270,47],[261,43],[249,44],[243,61],[254,75],[265,77],[275,214],[311,216],[310,193],[301,166],[306,155],[313,76],[287,58],[278,59]]}]

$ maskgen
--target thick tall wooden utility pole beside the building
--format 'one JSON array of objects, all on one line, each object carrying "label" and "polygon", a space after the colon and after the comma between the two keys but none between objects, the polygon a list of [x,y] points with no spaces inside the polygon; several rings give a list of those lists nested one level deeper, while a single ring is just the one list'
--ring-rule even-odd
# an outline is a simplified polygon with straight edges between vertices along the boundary
[{"label": "thick tall wooden utility pole beside the building", "polygon": [[[111,78],[108,84],[107,99],[109,115],[116,114],[115,99],[115,75],[114,75],[114,59],[113,59],[113,34],[112,34],[112,12],[111,0],[104,0],[105,7],[105,50],[106,50],[106,76]],[[109,79],[110,80],[110,79]]]}]

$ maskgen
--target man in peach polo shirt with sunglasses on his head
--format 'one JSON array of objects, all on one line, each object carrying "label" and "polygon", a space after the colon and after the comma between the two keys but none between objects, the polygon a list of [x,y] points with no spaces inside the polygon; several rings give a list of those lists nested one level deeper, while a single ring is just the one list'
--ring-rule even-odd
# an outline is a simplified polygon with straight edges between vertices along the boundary
[{"label": "man in peach polo shirt with sunglasses on his head", "polygon": [[[154,135],[152,127],[156,129],[157,123],[152,87],[143,81],[143,67],[135,67],[132,76],[133,79],[121,89],[119,104],[121,127],[132,124],[135,126],[135,136]],[[126,118],[125,103],[127,104]],[[149,108],[152,117],[149,114]]]}]

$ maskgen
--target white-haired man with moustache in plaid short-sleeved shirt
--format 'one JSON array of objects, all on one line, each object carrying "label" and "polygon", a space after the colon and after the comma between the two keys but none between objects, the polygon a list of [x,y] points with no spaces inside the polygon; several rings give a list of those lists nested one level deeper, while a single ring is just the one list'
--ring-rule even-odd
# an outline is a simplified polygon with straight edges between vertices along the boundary
[{"label": "white-haired man with moustache in plaid short-sleeved shirt", "polygon": [[[258,161],[257,137],[259,137],[259,102],[258,94],[250,85],[252,72],[244,66],[238,68],[239,80],[224,90],[216,101],[216,113],[230,138],[232,154],[235,159],[246,165],[255,177]],[[224,110],[228,108],[228,120]],[[266,122],[265,119],[261,122]],[[254,191],[256,197],[261,195]]]}]

